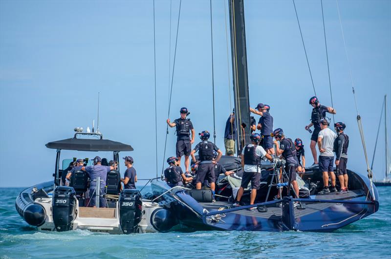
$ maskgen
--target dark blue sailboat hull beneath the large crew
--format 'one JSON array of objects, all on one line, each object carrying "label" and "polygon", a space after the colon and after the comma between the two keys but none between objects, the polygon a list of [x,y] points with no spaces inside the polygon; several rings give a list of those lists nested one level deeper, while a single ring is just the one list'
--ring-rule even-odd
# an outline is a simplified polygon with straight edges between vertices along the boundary
[{"label": "dark blue sailboat hull beneath the large crew", "polygon": [[[312,177],[318,175],[314,173]],[[176,216],[178,222],[192,230],[331,232],[368,217],[379,208],[376,187],[373,186],[372,197],[368,179],[351,171],[349,177],[354,190],[346,194],[316,195],[311,196],[311,199],[286,197],[283,200],[258,203],[256,211],[248,210],[252,206],[233,207],[227,201],[198,202],[183,189],[166,193],[162,203]],[[152,191],[156,195],[169,189],[162,181],[152,182]],[[294,201],[301,201],[304,208],[295,207]],[[281,207],[278,206],[280,203]]]}]

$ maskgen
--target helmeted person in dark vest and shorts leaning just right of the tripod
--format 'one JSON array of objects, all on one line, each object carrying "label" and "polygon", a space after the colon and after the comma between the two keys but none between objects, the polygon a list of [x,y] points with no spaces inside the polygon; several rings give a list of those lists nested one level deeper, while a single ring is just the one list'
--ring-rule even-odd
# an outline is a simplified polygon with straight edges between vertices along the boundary
[{"label": "helmeted person in dark vest and shorts leaning just right of the tripod", "polygon": [[[293,143],[292,139],[285,137],[284,132],[281,128],[275,129],[273,131],[273,136],[276,139],[274,140],[277,149],[276,155],[282,155],[282,157],[286,161],[285,172],[288,174],[290,179],[290,182],[288,181],[288,195],[290,195],[290,184],[292,184],[293,190],[295,191],[295,195],[297,198],[299,198],[299,185],[297,184],[296,180],[297,156],[295,144]],[[280,146],[278,145],[277,141],[280,141]],[[279,195],[280,193],[277,194],[277,198],[280,198]]]}]

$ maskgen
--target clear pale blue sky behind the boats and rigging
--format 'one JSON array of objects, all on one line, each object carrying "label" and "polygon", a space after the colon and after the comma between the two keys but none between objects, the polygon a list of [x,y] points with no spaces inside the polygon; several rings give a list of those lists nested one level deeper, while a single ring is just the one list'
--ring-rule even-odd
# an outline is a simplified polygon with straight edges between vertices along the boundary
[{"label": "clear pale blue sky behind the boats and rigging", "polygon": [[[370,163],[385,94],[389,133],[391,129],[391,1],[339,1],[349,62],[336,2],[323,5],[335,120],[347,124],[348,168],[366,175],[349,69]],[[225,1],[212,1],[216,144],[222,151],[225,121],[234,106],[227,8]],[[296,8],[317,96],[331,106],[321,2],[297,0]],[[178,0],[155,1],[155,103],[153,1],[1,0],[0,186],[32,186],[53,179],[56,152],[45,144],[73,137],[74,127],[91,127],[93,119],[96,123],[98,92],[99,129],[105,139],[133,146],[133,152],[120,156],[133,157],[139,179],[156,176],[156,160],[160,176],[167,157],[174,156],[175,130],[169,129],[164,157],[165,120],[179,118],[181,107],[191,112],[196,133],[213,132],[210,3],[182,1],[172,76],[178,9]],[[310,165],[310,134],[304,126],[314,92],[293,3],[246,0],[244,13],[250,104],[271,106],[274,128],[303,139]],[[96,155],[109,157],[64,151],[61,159]],[[382,126],[373,168],[377,179],[384,177],[384,159]]]}]

